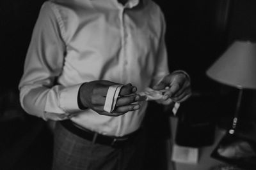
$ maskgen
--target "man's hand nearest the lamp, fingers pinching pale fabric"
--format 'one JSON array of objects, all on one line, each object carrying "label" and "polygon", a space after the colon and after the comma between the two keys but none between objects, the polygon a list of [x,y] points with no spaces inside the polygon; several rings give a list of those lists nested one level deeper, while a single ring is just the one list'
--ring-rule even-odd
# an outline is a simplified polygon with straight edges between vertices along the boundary
[{"label": "man's hand nearest the lamp, fingers pinching pale fabric", "polygon": [[[168,101],[183,102],[191,96],[190,78],[187,74],[182,72],[173,72],[164,76],[157,85],[153,87],[154,90],[164,90],[163,100],[160,103],[170,103]],[[171,99],[171,100],[170,100]]]}]

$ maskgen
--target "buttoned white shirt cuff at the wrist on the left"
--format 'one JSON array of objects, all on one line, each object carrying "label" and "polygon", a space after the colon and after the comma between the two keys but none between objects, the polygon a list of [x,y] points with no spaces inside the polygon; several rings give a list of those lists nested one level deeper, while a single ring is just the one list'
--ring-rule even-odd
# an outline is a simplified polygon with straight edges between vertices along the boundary
[{"label": "buttoned white shirt cuff at the wrist on the left", "polygon": [[60,93],[60,108],[66,113],[81,111],[77,104],[77,95],[81,84],[67,87]]}]

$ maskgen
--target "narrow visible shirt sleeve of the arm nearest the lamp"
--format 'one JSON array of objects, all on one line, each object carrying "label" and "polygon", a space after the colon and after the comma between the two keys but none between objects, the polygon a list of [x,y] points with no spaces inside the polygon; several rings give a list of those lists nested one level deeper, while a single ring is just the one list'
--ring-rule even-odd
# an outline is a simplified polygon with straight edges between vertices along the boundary
[{"label": "narrow visible shirt sleeve of the arm nearest the lamp", "polygon": [[156,85],[164,76],[169,74],[169,67],[168,67],[168,55],[166,50],[166,43],[165,43],[165,32],[166,32],[166,23],[164,19],[163,12],[160,13],[160,24],[161,27],[161,36],[159,38],[159,47],[157,50],[157,59],[156,59],[156,67],[154,71],[154,77],[152,81],[152,87]]}]

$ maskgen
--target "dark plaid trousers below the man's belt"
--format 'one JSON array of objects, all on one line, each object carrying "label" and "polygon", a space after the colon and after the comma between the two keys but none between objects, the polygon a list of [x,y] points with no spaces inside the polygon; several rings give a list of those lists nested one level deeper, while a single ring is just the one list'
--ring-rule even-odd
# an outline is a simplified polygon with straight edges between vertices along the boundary
[{"label": "dark plaid trousers below the man's belt", "polygon": [[67,131],[57,122],[54,129],[53,170],[141,170],[145,132],[122,148],[92,143]]}]

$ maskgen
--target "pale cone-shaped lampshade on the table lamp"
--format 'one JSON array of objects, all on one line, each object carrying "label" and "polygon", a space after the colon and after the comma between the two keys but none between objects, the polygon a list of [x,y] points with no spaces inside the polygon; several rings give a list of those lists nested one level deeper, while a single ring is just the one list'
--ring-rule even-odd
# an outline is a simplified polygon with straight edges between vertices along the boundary
[{"label": "pale cone-shaped lampshade on the table lamp", "polygon": [[235,41],[206,74],[239,89],[256,89],[256,43]]}]

